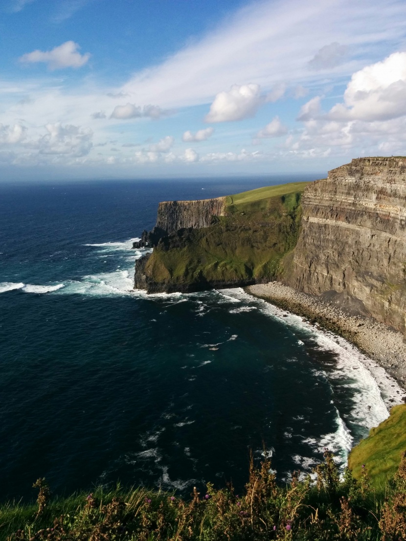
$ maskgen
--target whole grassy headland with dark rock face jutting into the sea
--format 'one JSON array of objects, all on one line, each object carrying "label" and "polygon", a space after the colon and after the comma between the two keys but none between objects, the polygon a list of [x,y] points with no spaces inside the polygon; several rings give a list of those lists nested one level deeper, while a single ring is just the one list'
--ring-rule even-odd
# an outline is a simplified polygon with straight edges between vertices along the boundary
[{"label": "whole grassy headland with dark rock face jutting into the sea", "polygon": [[161,203],[155,228],[143,236],[154,251],[137,261],[134,287],[192,292],[273,280],[296,245],[305,185]]}]

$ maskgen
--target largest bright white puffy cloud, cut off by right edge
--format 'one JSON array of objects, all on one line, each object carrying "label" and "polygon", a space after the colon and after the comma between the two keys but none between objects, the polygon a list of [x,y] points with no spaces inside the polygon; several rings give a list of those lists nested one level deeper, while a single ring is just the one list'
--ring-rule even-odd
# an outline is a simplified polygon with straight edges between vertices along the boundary
[{"label": "largest bright white puffy cloud, cut off by right edge", "polygon": [[394,52],[352,75],[334,120],[388,120],[406,115],[406,52]]}]

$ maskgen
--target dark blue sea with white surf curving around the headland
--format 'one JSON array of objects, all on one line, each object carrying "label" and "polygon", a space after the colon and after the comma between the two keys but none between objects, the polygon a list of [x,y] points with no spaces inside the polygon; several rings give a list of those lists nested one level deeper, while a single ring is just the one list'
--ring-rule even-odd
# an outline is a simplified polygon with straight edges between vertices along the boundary
[{"label": "dark blue sea with white surf curving around the headland", "polygon": [[159,201],[278,180],[0,185],[0,499],[241,487],[263,443],[280,479],[345,463],[387,414],[357,352],[241,289],[130,291]]}]

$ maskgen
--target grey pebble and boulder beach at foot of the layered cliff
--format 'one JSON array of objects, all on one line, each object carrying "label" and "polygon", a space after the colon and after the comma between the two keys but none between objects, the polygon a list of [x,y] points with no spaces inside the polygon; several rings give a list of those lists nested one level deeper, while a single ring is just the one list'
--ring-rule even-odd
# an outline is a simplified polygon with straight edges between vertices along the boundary
[{"label": "grey pebble and boulder beach at foot of the layered cliff", "polygon": [[401,332],[373,318],[351,315],[335,306],[332,301],[300,293],[280,282],[248,286],[245,291],[279,308],[300,315],[312,324],[320,325],[352,342],[406,389],[406,344]]}]

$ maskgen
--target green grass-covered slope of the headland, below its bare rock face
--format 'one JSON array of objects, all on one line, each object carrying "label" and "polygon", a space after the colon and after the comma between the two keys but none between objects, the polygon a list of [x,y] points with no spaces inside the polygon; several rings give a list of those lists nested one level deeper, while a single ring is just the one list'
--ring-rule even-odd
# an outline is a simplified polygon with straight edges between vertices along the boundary
[{"label": "green grass-covered slope of the headland, below its bare rock face", "polygon": [[164,291],[192,291],[271,280],[281,258],[296,245],[306,184],[227,197],[226,215],[211,227],[181,230],[159,242],[145,269],[149,283],[160,284]]}]

